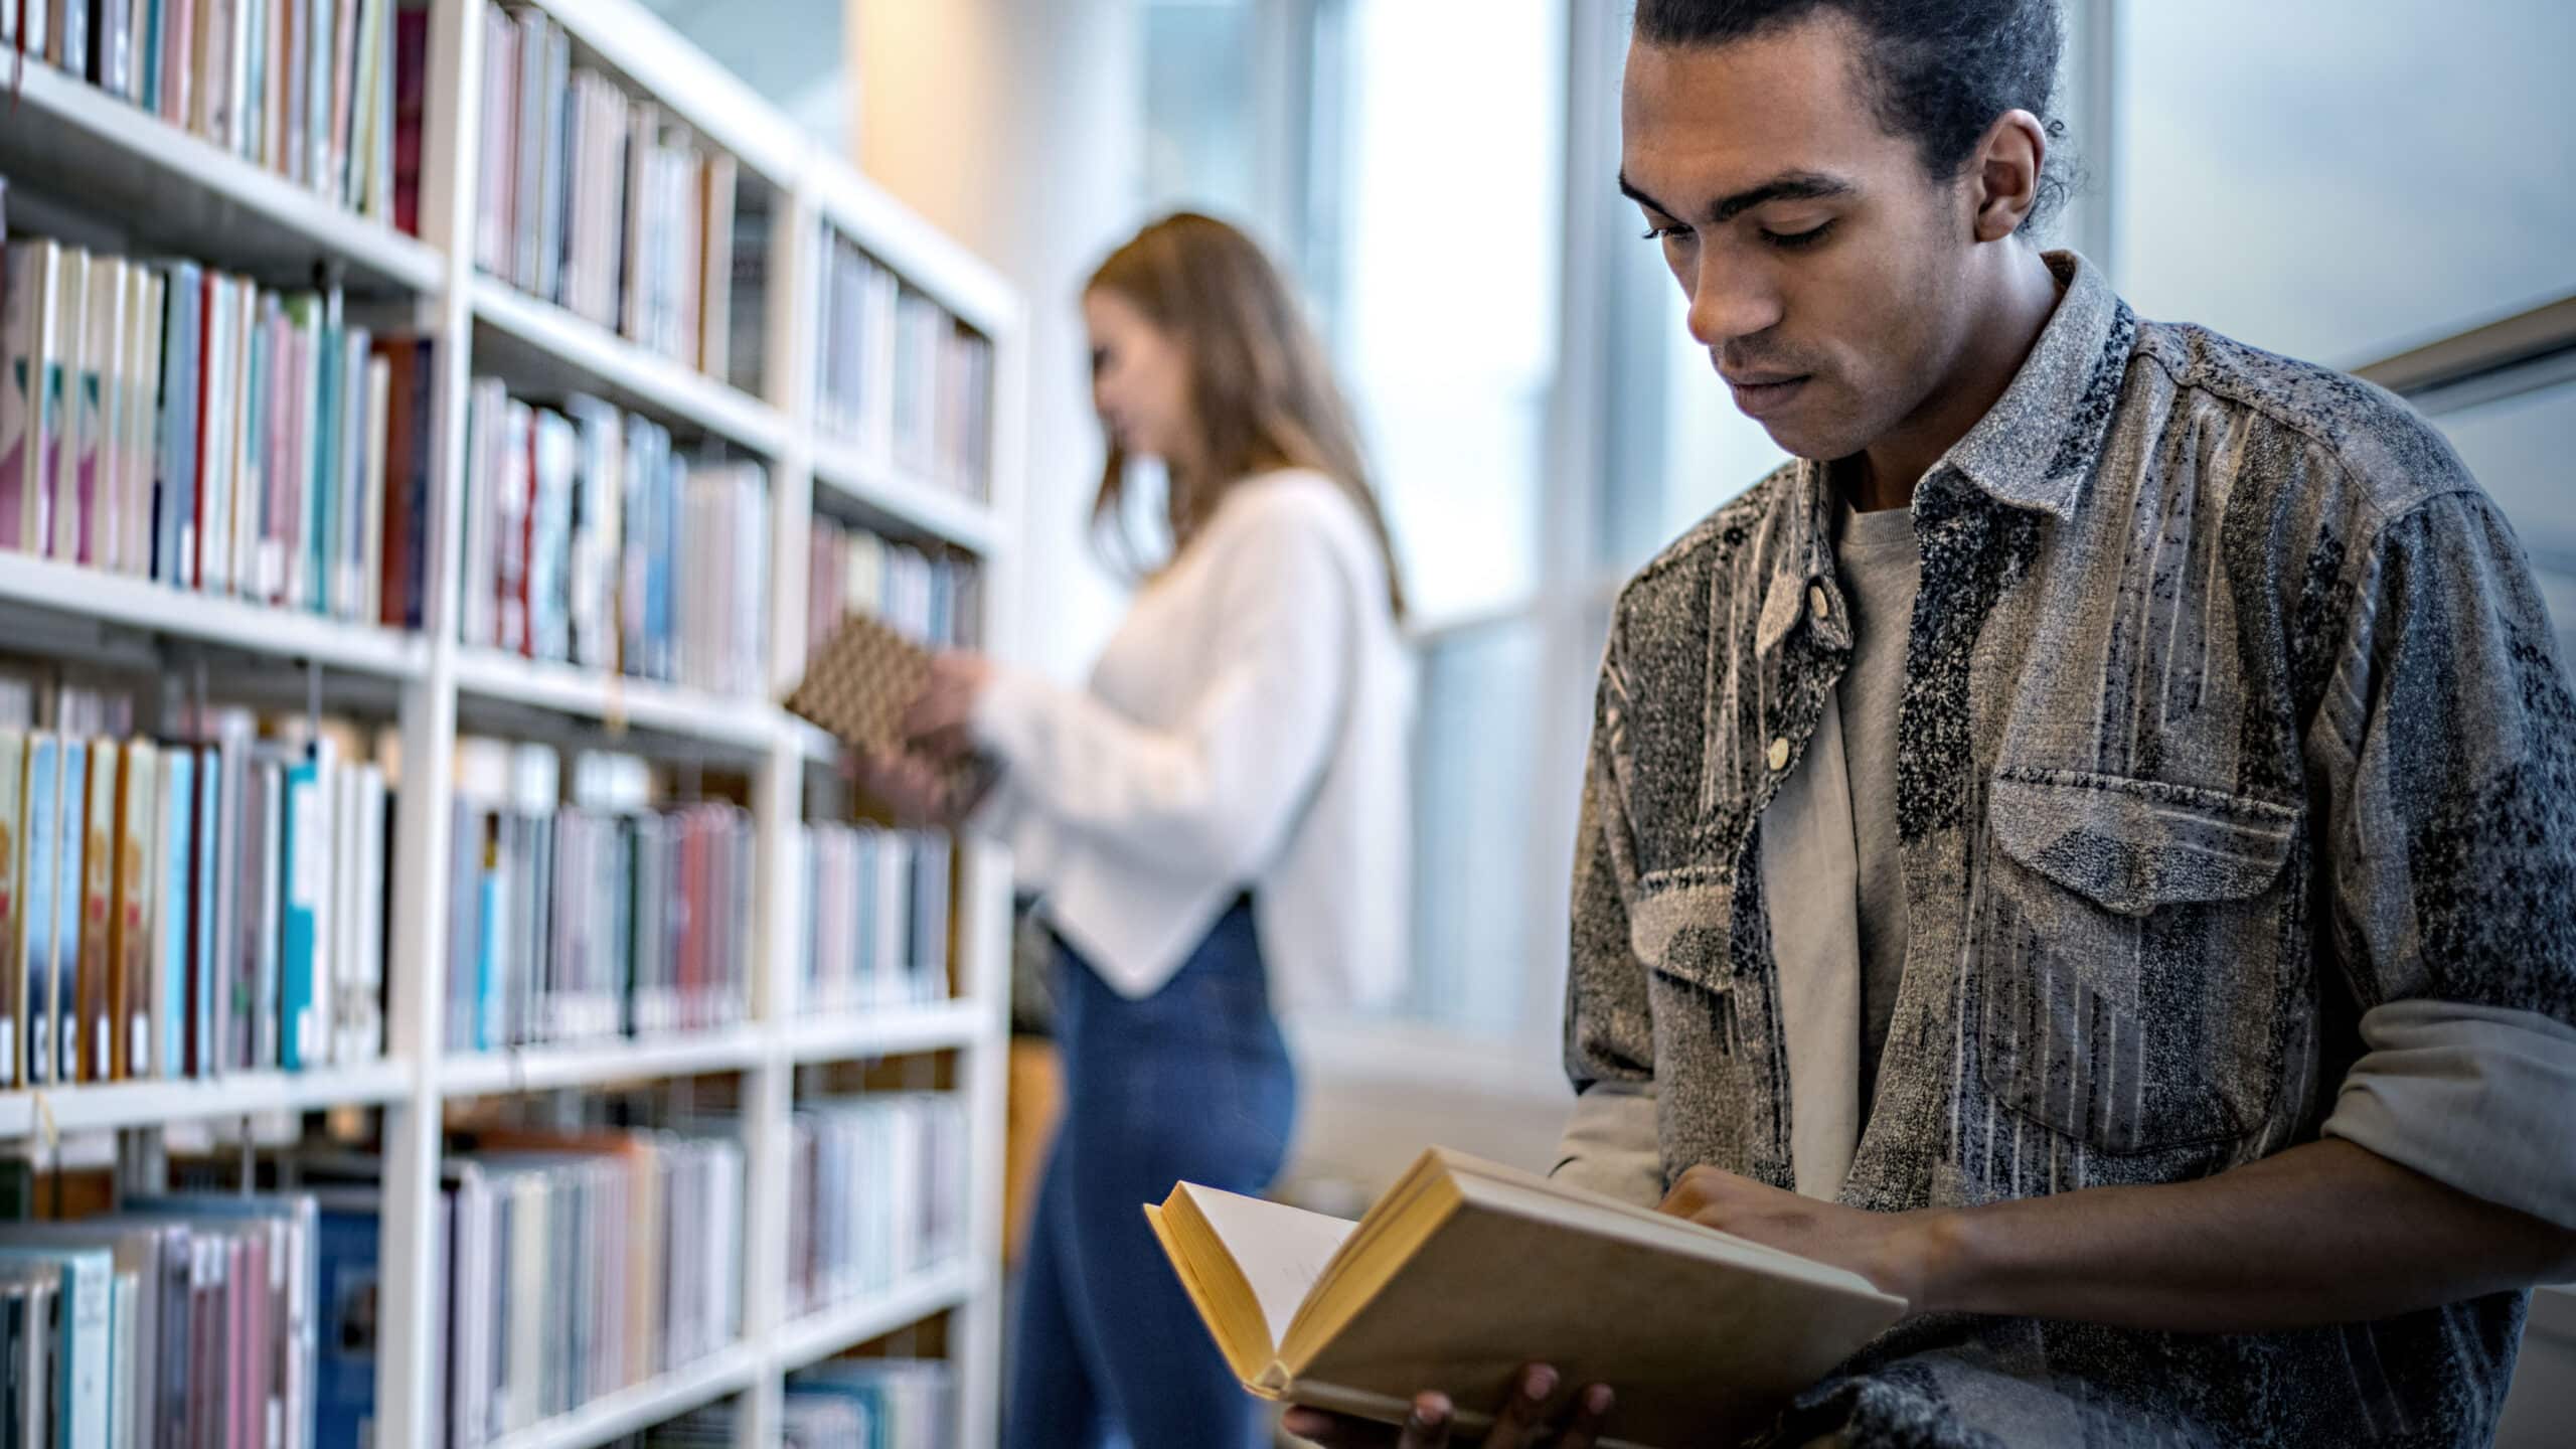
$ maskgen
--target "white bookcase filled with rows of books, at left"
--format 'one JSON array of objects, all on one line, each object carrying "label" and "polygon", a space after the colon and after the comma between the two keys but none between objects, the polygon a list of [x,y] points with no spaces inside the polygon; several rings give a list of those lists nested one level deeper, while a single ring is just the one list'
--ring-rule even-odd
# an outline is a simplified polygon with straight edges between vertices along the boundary
[{"label": "white bookcase filled with rows of books, at left", "polygon": [[1007,861],[778,699],[1018,299],[634,0],[0,46],[0,1441],[987,1444]]}]

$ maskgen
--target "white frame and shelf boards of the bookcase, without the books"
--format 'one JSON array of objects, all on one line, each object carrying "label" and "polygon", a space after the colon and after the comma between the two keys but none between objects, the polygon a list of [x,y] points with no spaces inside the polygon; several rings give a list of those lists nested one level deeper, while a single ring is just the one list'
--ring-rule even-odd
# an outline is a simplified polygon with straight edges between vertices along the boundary
[{"label": "white frame and shelf boards of the bookcase, without the books", "polygon": [[[948,1354],[961,1387],[958,1444],[984,1446],[997,1423],[1002,1091],[1007,1031],[1010,879],[992,848],[961,843],[956,890],[958,1000],[855,1016],[793,1011],[801,884],[796,856],[806,773],[829,768],[829,743],[770,699],[732,699],[616,678],[456,645],[469,379],[497,374],[538,394],[580,389],[719,438],[768,469],[770,639],[768,678],[783,691],[804,657],[809,521],[817,503],[855,523],[979,557],[979,647],[1007,655],[994,624],[1010,619],[1020,459],[1020,302],[987,266],[860,178],[732,72],[680,41],[631,0],[538,0],[585,64],[613,72],[685,119],[703,144],[737,157],[747,183],[770,188],[765,366],[752,394],[538,302],[474,268],[474,196],[484,103],[482,34],[489,0],[430,0],[428,113],[422,119],[420,237],[363,222],[178,126],[64,75],[26,67],[23,93],[0,116],[0,175],[23,191],[75,199],[98,235],[139,255],[191,255],[265,278],[340,268],[435,348],[430,490],[430,627],[420,634],[337,624],[147,580],[0,554],[0,629],[15,650],[59,657],[160,657],[193,678],[219,657],[214,688],[299,691],[312,670],[337,688],[394,699],[402,804],[392,859],[386,1057],[322,1073],[237,1073],[216,1080],[144,1080],[0,1093],[0,1145],[54,1145],[118,1132],[126,1145],[180,1122],[278,1111],[381,1106],[386,1217],[376,1441],[430,1444],[438,1359],[430,1328],[446,1284],[433,1261],[440,1122],[448,1101],[611,1083],[742,1075],[744,1299],[742,1338],[662,1379],[520,1431],[505,1449],[585,1449],[703,1403],[742,1395],[744,1446],[778,1441],[786,1374],[835,1351],[951,1312]],[[36,222],[49,219],[39,211]],[[811,374],[819,327],[817,235],[858,240],[909,286],[994,345],[992,500],[969,500],[840,438],[819,436]],[[247,660],[247,665],[242,663]],[[237,673],[252,668],[255,676]],[[340,678],[353,676],[353,678]],[[453,748],[461,732],[598,743],[667,758],[724,755],[752,776],[755,918],[750,1021],[701,1034],[592,1047],[446,1055],[448,828]],[[495,719],[500,719],[495,724]],[[917,1052],[956,1052],[956,1091],[971,1132],[971,1217],[963,1261],[891,1292],[788,1320],[788,1137],[801,1067]]]}]

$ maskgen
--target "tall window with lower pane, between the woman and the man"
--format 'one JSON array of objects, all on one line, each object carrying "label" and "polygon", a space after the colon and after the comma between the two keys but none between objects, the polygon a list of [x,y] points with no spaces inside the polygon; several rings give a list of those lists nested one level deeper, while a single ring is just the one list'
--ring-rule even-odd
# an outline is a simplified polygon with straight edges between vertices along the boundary
[{"label": "tall window with lower pane, between the woman and the man", "polygon": [[[1139,0],[1139,15],[1154,206],[1242,219],[1301,276],[1414,603],[1417,969],[1396,1018],[1551,1034],[1556,977],[1533,962],[1564,959],[1597,663],[1597,637],[1571,642],[1592,578],[1548,536],[1582,487],[1548,467],[1569,5]],[[1293,103],[1275,103],[1283,80]]]}]

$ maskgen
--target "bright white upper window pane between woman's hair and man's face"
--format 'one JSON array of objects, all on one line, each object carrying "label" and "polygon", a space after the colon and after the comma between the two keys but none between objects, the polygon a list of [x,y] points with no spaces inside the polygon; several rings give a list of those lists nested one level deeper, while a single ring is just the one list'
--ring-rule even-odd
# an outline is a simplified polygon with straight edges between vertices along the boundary
[{"label": "bright white upper window pane between woman's hair and man's face", "polygon": [[1561,0],[1345,0],[1324,44],[1342,113],[1319,126],[1340,147],[1316,160],[1340,178],[1319,304],[1406,583],[1430,619],[1525,603],[1556,382]]}]

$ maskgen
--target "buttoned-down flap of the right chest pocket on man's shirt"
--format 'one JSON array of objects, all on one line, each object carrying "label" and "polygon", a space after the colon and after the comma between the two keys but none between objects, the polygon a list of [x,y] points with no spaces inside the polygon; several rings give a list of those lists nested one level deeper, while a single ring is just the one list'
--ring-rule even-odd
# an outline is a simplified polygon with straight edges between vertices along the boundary
[{"label": "buttoned-down flap of the right chest pocket on man's shirt", "polygon": [[2300,822],[2269,799],[2038,768],[1999,773],[1989,815],[2007,856],[2120,915],[2272,890]]}]

